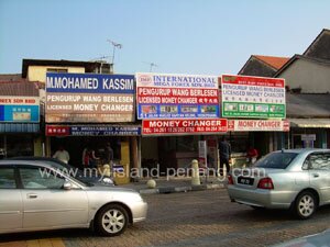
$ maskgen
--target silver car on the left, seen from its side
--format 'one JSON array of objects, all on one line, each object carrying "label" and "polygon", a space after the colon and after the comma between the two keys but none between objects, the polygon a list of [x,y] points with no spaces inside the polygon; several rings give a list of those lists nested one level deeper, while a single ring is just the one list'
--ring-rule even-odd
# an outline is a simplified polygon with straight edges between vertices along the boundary
[{"label": "silver car on the left, seen from its side", "polygon": [[46,162],[0,160],[0,233],[90,227],[116,236],[146,211],[136,191],[87,183]]}]

